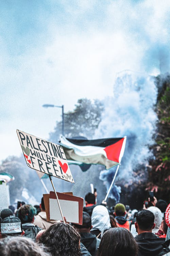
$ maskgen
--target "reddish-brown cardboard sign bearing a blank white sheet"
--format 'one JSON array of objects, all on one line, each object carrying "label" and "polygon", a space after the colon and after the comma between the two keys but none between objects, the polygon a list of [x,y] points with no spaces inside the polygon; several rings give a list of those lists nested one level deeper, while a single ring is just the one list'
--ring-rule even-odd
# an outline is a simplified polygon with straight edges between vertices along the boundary
[{"label": "reddish-brown cardboard sign bearing a blank white sheet", "polygon": [[[83,198],[76,197],[70,193],[58,193],[58,199],[62,208],[64,217],[67,222],[82,225],[83,222]],[[47,221],[62,220],[59,207],[56,203],[55,193],[50,191],[50,194],[43,195]]]}]

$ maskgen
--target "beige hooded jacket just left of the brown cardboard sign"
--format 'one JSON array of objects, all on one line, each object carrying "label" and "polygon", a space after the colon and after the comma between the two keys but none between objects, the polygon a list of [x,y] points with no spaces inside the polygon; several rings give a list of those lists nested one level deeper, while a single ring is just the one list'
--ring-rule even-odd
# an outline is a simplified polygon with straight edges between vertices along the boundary
[{"label": "beige hooded jacket just left of the brown cardboard sign", "polygon": [[42,229],[48,229],[51,225],[58,221],[47,221],[46,212],[39,212],[38,215],[34,217],[34,225]]}]

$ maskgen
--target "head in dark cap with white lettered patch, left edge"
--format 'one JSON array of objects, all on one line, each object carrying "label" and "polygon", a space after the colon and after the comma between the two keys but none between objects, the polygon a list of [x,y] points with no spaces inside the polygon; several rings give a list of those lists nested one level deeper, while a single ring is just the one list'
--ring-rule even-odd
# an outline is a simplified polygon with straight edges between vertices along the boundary
[{"label": "head in dark cap with white lettered patch, left edge", "polygon": [[20,219],[13,215],[4,218],[0,223],[0,228],[1,238],[5,238],[7,236],[20,236],[24,234]]}]

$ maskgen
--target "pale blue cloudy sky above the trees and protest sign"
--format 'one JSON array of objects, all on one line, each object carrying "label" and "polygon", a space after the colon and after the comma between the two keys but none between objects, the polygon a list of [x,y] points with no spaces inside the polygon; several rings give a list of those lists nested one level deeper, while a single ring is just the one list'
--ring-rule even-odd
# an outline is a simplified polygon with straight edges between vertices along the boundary
[{"label": "pale blue cloudy sky above the trees and protest sign", "polygon": [[168,0],[1,0],[0,161],[16,129],[48,139],[60,108],[112,96],[117,74],[170,70]]}]

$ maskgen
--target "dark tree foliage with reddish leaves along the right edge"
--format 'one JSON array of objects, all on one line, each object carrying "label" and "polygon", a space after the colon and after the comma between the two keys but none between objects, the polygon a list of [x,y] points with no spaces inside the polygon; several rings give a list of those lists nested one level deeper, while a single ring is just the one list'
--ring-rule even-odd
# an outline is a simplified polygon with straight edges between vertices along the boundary
[{"label": "dark tree foliage with reddish leaves along the right edge", "polygon": [[[157,97],[157,136],[152,150],[155,159],[150,161],[148,188],[156,187],[159,197],[170,200],[170,75],[156,78]],[[161,86],[162,84],[162,86]]]}]

